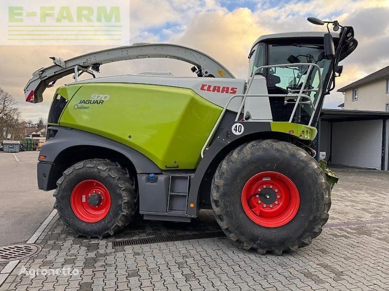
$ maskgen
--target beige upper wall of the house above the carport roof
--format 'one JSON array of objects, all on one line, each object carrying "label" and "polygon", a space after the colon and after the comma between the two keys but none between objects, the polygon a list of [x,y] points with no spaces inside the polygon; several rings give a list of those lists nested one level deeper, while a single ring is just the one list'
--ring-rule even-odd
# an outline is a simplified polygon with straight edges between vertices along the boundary
[{"label": "beige upper wall of the house above the carport roof", "polygon": [[[356,88],[358,88],[358,100],[352,101],[352,94]],[[386,93],[386,78],[346,90],[344,96],[345,109],[385,111],[385,104],[388,103],[389,94]]]}]

